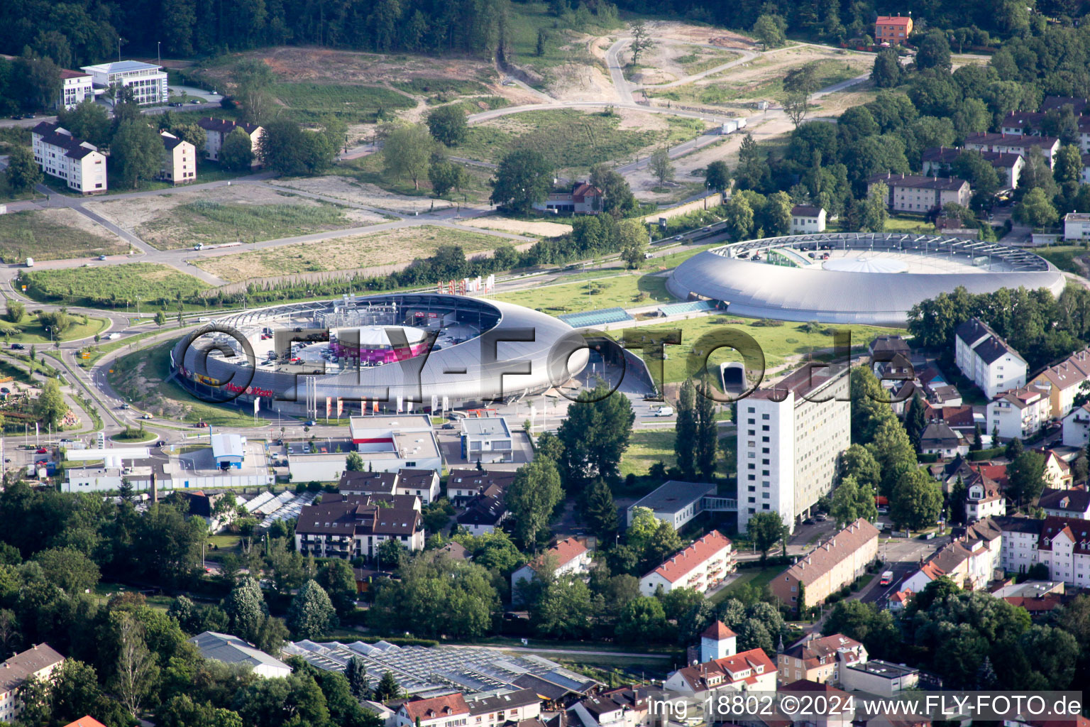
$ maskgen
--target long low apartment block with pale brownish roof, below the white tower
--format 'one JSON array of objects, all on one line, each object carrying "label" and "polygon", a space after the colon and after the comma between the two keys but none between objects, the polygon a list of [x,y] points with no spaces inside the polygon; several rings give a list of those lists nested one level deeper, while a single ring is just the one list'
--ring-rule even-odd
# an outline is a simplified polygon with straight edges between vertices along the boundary
[{"label": "long low apartment block with pale brownish roof, below the white tower", "polygon": [[[773,594],[797,608],[816,606],[867,571],[879,554],[879,530],[860,518],[772,579]],[[803,601],[799,602],[799,586]]]}]

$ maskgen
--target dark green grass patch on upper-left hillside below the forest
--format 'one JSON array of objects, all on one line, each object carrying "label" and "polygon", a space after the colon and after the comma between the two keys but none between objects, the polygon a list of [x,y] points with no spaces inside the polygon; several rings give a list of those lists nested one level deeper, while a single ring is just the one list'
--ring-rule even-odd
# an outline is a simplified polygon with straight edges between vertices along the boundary
[{"label": "dark green grass patch on upper-left hillside below the forest", "polygon": [[349,122],[374,122],[379,111],[392,113],[415,106],[411,98],[376,86],[278,83],[272,94],[289,107],[288,114],[298,121],[316,121],[332,113]]}]

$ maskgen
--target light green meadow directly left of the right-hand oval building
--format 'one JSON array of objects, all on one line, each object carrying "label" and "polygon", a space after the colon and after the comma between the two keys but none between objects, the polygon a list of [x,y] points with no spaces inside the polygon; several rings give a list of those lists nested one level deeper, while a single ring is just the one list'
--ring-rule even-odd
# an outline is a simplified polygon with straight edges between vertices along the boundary
[{"label": "light green meadow directly left of the right-hand oval building", "polygon": [[[646,296],[640,300],[643,293],[646,293]],[[530,290],[500,293],[496,298],[536,308],[549,315],[614,306],[630,308],[635,305],[651,305],[658,301],[674,300],[666,292],[666,278],[640,275],[639,272],[580,282],[541,286]]]}]

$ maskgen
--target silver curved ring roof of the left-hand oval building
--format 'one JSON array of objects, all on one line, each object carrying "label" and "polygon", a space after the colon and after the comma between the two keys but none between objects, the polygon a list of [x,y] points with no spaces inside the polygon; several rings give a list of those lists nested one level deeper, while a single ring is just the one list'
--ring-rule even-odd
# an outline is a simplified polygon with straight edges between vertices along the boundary
[{"label": "silver curved ring roof of the left-hand oval building", "polygon": [[[393,293],[361,296],[359,300],[385,302],[397,300],[404,306],[459,306],[460,310],[479,308],[491,317],[498,315],[496,325],[484,334],[462,343],[433,350],[426,359],[416,356],[408,361],[364,366],[337,374],[303,376],[292,372],[258,367],[253,372],[250,387],[275,391],[288,401],[303,401],[303,379],[315,379],[318,400],[325,397],[346,400],[393,401],[398,397],[431,403],[433,395],[449,397],[453,401],[484,401],[493,398],[514,397],[525,392],[540,392],[564,384],[585,366],[589,354],[582,337],[568,324],[537,311],[460,295],[435,293]],[[334,301],[313,302],[301,310],[299,304],[272,306],[227,318],[223,323],[268,325],[278,316],[305,315],[328,308]],[[178,342],[172,359],[187,371],[197,372],[221,381],[247,381],[247,366],[221,358],[206,358],[206,372],[198,371],[195,346]],[[423,361],[422,361],[423,360]],[[423,363],[423,367],[421,364]],[[549,371],[552,368],[552,371]]]}]

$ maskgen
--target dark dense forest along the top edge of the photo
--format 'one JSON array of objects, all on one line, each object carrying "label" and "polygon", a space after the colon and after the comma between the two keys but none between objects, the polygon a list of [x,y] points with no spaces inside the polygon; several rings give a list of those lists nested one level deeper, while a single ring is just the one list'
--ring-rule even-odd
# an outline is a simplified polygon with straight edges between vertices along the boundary
[{"label": "dark dense forest along the top edge of the photo", "polygon": [[[263,45],[319,45],[358,50],[504,52],[510,0],[10,0],[0,3],[0,52],[25,47],[60,65],[97,63],[122,52],[173,56],[244,50]],[[938,27],[971,45],[1040,35],[1046,19],[1090,11],[1085,0],[548,0],[572,27],[616,20],[617,9],[749,28],[762,13],[784,17],[792,34],[840,43],[872,33],[876,14],[912,11],[917,29]],[[1031,12],[1031,8],[1033,11]],[[1081,44],[1079,44],[1081,45]],[[1030,48],[1029,52],[1036,52]],[[1019,62],[1019,65],[1021,63]],[[1083,69],[1085,73],[1085,69]]]}]

